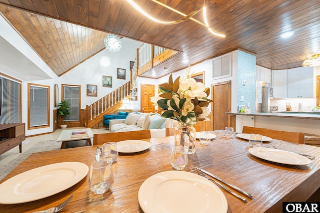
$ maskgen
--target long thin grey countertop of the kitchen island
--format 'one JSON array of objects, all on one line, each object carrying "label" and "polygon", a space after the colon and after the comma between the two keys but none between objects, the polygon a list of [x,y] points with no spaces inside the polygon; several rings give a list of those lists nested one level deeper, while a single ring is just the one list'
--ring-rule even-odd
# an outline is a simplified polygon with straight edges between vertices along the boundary
[{"label": "long thin grey countertop of the kitchen island", "polygon": [[246,116],[264,116],[264,117],[276,117],[276,118],[303,118],[320,120],[320,114],[318,112],[253,112],[253,113],[232,113],[226,112],[227,115],[246,115]]}]

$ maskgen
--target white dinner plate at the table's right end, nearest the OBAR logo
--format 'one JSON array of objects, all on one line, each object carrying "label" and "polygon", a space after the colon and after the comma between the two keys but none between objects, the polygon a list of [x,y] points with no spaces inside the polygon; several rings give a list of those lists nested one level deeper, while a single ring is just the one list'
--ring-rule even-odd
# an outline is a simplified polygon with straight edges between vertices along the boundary
[{"label": "white dinner plate at the table's right end, nearest the OBAR logo", "polygon": [[250,148],[248,152],[255,157],[280,164],[307,165],[312,162],[310,159],[307,159],[302,155],[279,149],[255,147]]}]

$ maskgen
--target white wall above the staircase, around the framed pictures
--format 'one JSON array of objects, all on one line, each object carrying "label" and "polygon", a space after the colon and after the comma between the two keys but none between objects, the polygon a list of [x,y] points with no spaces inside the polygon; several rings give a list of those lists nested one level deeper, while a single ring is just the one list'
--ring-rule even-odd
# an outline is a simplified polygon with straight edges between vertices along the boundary
[{"label": "white wall above the staircase, around the framed pictures", "polygon": [[[61,84],[81,86],[81,109],[84,109],[86,105],[94,103],[106,94],[130,81],[130,61],[134,61],[136,48],[142,43],[127,38],[122,38],[121,40],[122,48],[120,51],[111,53],[108,50],[102,50],[58,78],[57,84],[59,90]],[[108,56],[111,60],[111,66],[109,68],[102,68],[99,66],[99,58],[103,55]],[[125,80],[116,78],[117,68],[125,69]],[[111,88],[102,87],[103,75],[112,77]],[[97,97],[86,96],[86,84],[97,85]],[[61,99],[61,95],[59,95],[59,99]]]}]

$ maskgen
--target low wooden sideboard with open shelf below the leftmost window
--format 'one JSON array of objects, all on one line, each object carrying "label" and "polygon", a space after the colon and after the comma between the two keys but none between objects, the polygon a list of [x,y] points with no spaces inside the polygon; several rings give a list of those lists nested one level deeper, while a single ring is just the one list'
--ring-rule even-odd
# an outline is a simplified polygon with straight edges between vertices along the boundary
[{"label": "low wooden sideboard with open shelf below the leftmost window", "polygon": [[0,155],[19,145],[22,152],[22,141],[25,139],[24,123],[0,124],[0,138],[7,137],[0,141]]}]

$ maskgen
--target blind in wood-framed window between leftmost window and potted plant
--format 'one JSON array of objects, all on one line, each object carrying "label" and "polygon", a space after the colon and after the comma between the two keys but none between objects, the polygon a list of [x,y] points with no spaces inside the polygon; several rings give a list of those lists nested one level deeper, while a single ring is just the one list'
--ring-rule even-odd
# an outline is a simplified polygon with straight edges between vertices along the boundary
[{"label": "blind in wood-framed window between leftmost window and potted plant", "polygon": [[30,127],[48,125],[48,88],[30,85]]}]

